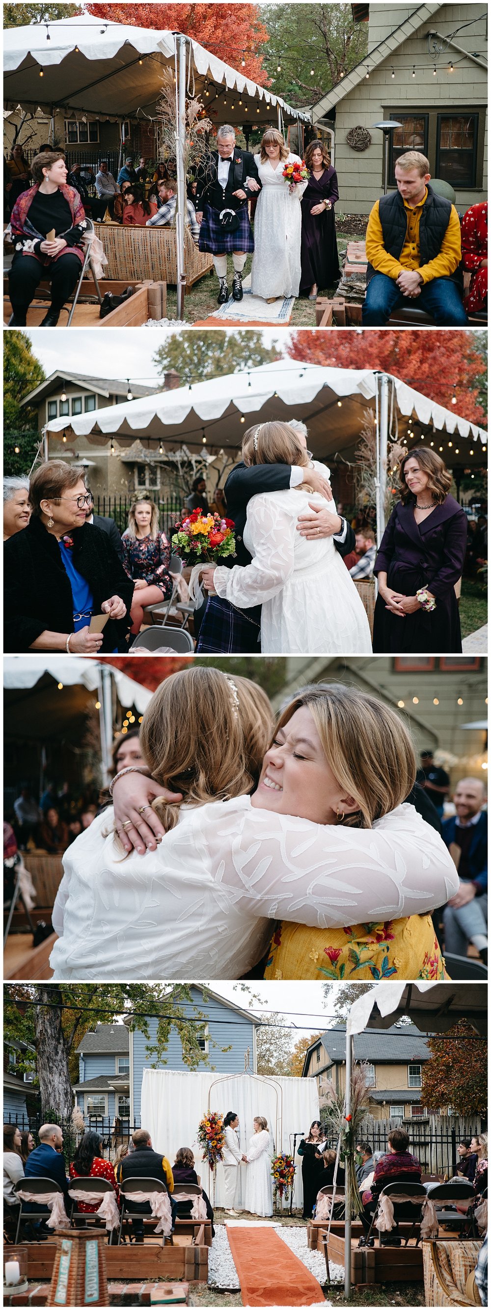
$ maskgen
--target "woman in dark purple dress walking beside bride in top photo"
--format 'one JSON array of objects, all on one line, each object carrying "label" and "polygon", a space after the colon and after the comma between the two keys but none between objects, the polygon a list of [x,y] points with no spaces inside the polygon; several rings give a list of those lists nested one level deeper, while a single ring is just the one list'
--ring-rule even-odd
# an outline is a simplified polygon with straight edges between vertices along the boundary
[{"label": "woman in dark purple dress walking beside bride in top photo", "polygon": [[310,177],[301,198],[300,295],[316,300],[317,291],[339,278],[334,204],[339,199],[338,177],[322,141],[305,151]]}]

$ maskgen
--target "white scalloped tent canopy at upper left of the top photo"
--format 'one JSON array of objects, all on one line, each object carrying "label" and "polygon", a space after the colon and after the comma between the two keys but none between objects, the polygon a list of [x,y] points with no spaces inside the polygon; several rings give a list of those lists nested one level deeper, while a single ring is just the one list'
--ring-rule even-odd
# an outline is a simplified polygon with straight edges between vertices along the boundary
[{"label": "white scalloped tent canopy at upper left of the top photo", "polygon": [[[207,109],[213,103],[220,109],[219,122],[271,123],[278,109],[284,121],[310,121],[196,41],[189,41],[189,47],[190,90],[202,94],[207,83]],[[164,66],[175,67],[173,31],[124,26],[92,13],[4,31],[4,100],[10,110],[20,105],[50,114],[63,107],[67,117],[69,110],[85,110],[98,118],[152,118]],[[229,90],[237,92],[232,100]]]}]

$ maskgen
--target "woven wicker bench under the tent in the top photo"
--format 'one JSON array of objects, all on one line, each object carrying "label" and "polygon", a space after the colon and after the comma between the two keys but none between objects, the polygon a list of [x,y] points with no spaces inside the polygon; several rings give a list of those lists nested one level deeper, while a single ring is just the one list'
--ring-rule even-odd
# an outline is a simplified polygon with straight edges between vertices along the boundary
[{"label": "woven wicker bench under the tent in the top photo", "polygon": [[[115,223],[96,223],[94,228],[105,249],[107,278],[177,284],[175,228],[124,228]],[[202,254],[186,229],[186,284],[191,287],[212,267],[212,255]]]}]

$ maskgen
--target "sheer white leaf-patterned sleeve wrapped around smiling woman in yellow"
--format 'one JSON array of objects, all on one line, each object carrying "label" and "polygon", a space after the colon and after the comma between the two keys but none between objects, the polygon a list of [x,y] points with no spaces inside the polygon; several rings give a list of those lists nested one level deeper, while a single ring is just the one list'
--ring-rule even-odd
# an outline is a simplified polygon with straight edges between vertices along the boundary
[{"label": "sheer white leaf-patterned sleeve wrapped around smiling woman in yellow", "polygon": [[207,820],[206,842],[215,883],[236,905],[309,927],[427,913],[458,886],[444,841],[410,804],[372,829],[225,804]]}]

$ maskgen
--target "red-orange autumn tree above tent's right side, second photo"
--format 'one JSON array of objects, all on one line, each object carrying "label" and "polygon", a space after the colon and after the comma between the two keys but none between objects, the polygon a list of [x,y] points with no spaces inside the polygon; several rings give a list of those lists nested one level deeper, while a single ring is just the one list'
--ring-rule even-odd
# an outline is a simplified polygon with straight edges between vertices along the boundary
[{"label": "red-orange autumn tree above tent's right side, second photo", "polygon": [[486,360],[466,331],[432,331],[406,328],[405,331],[296,331],[288,346],[292,359],[325,368],[378,368],[401,377],[423,396],[452,409],[471,423],[486,426],[479,397],[479,380]]}]

